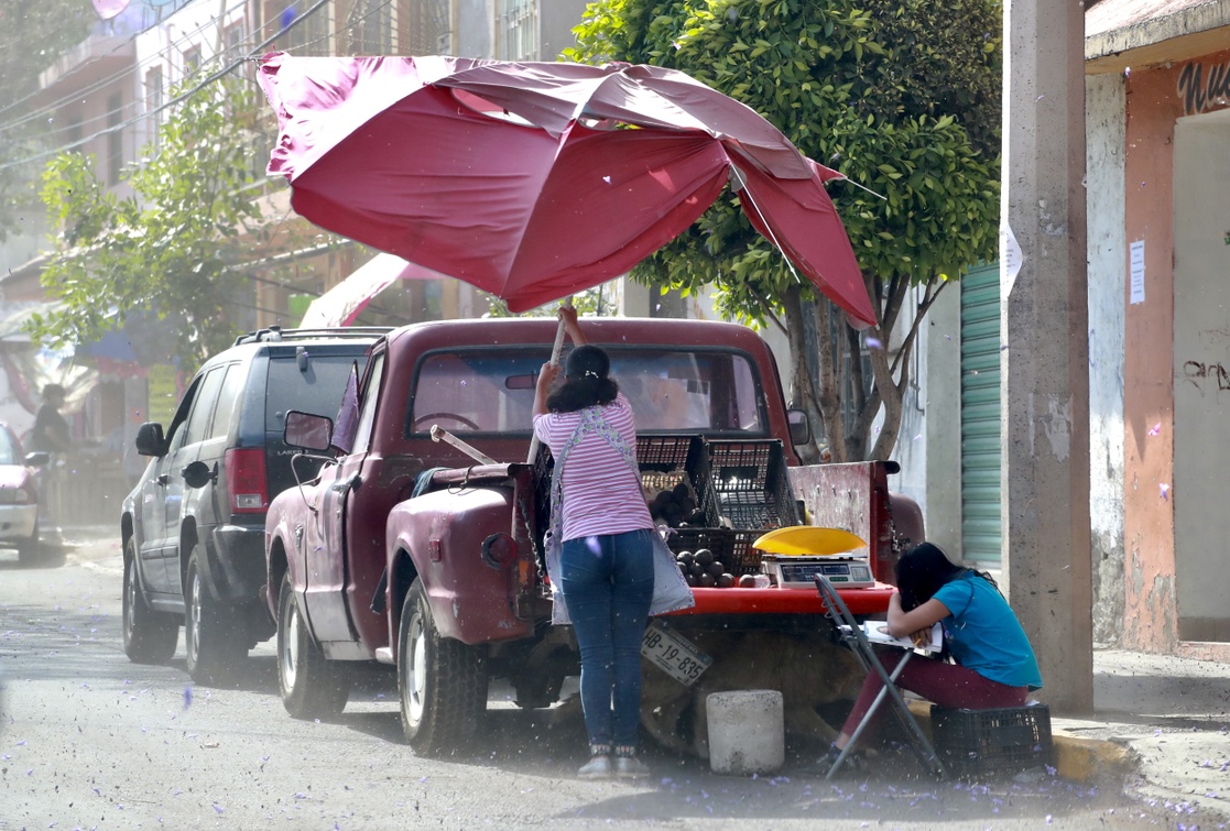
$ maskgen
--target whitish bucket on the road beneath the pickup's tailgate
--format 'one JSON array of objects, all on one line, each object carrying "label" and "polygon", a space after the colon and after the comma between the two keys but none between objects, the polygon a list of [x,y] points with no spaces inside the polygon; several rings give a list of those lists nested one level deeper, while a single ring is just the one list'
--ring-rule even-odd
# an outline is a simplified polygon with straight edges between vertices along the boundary
[{"label": "whitish bucket on the road beneath the pickup's tailgate", "polygon": [[708,765],[715,773],[772,773],[786,761],[782,698],[776,690],[713,692],[708,713]]}]

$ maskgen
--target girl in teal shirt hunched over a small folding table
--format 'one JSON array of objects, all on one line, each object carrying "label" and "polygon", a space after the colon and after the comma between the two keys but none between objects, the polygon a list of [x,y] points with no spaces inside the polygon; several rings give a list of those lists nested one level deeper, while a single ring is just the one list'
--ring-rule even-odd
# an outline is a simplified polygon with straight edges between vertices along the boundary
[{"label": "girl in teal shirt hunched over a small folding table", "polygon": [[[897,677],[897,686],[952,709],[1022,707],[1042,674],[1030,639],[1016,613],[985,572],[957,565],[930,542],[914,546],[897,562],[897,591],[888,599],[888,633],[895,638],[943,626],[956,664],[915,658]],[[828,755],[809,772],[825,774],[883,688],[878,672],[868,672],[854,709]],[[879,717],[884,711],[876,711]],[[846,756],[851,767],[861,760]]]}]

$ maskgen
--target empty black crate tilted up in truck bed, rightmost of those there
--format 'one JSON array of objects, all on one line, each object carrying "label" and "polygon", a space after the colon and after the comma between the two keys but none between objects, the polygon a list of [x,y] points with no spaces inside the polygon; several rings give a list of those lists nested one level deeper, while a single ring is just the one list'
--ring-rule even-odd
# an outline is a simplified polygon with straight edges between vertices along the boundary
[{"label": "empty black crate tilted up in truck bed, rightmost of those there", "polygon": [[736,529],[759,531],[801,522],[781,441],[723,439],[706,444],[718,516]]}]

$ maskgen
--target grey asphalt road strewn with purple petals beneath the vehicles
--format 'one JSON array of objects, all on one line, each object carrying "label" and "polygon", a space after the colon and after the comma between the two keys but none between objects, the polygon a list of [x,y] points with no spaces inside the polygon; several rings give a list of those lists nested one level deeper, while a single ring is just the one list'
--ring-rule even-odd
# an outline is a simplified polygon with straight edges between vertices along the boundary
[{"label": "grey asphalt road strewn with purple petals beneath the vehicles", "polygon": [[[128,661],[116,540],[21,569],[0,552],[0,829],[1144,829],[1194,827],[1119,782],[1048,774],[940,783],[913,756],[824,782],[787,767],[721,777],[654,747],[643,782],[583,782],[572,708],[519,711],[493,690],[480,742],[449,760],[400,741],[391,675],[330,723],[277,695],[272,648],[240,688]],[[1187,825],[1181,825],[1180,821]],[[1214,827],[1214,826],[1208,826]]]}]

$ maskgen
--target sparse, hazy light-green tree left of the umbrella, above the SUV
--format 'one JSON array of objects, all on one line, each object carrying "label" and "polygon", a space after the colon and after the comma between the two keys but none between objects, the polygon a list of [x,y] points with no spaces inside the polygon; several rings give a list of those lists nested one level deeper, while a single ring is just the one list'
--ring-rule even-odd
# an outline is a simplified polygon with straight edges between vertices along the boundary
[{"label": "sparse, hazy light-green tree left of the umbrella, above the SUV", "polygon": [[41,279],[63,305],[36,316],[34,337],[75,345],[133,315],[170,317],[177,342],[167,352],[186,369],[234,342],[247,285],[241,266],[264,234],[260,192],[250,187],[256,107],[241,79],[184,100],[125,172],[134,195],[124,199],[79,152],[48,163],[42,197],[55,235]]}]

